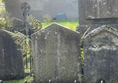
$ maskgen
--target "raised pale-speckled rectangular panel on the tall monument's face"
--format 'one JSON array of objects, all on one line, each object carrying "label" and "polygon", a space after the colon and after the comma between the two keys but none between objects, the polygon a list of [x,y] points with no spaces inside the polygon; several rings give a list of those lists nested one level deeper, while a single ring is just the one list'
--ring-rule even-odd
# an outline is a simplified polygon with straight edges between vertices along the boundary
[{"label": "raised pale-speckled rectangular panel on the tall monument's face", "polygon": [[118,0],[86,0],[86,19],[118,18]]}]

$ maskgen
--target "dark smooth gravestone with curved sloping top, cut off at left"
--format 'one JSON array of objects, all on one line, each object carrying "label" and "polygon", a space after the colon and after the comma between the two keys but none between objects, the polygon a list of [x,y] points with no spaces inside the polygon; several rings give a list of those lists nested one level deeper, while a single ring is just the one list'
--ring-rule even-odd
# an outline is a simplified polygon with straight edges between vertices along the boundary
[{"label": "dark smooth gravestone with curved sloping top, cut off at left", "polygon": [[6,30],[0,29],[0,79],[11,80],[24,77],[22,52]]}]

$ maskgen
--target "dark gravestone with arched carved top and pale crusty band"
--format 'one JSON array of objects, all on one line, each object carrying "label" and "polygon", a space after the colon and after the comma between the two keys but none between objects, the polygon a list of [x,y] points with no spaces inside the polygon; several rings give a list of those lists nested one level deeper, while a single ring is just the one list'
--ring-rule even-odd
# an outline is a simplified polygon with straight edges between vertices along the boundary
[{"label": "dark gravestone with arched carved top and pale crusty band", "polygon": [[118,30],[106,25],[84,37],[84,83],[100,79],[118,83]]}]

